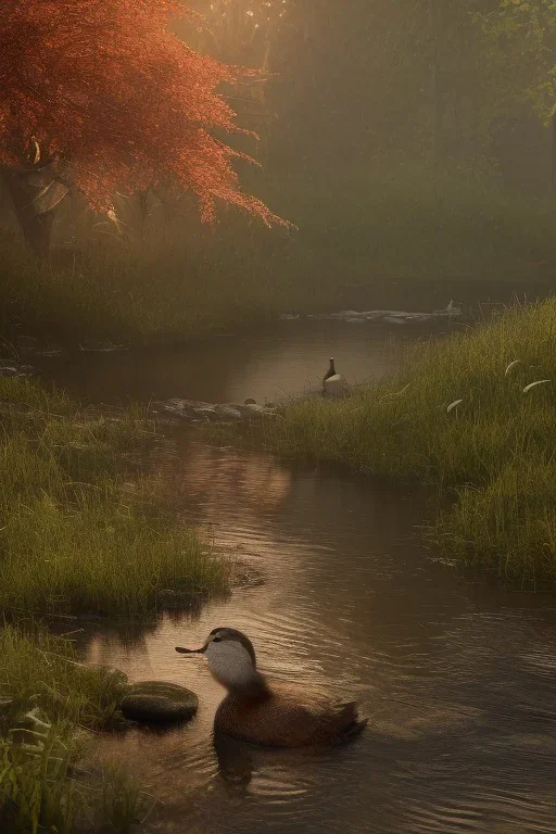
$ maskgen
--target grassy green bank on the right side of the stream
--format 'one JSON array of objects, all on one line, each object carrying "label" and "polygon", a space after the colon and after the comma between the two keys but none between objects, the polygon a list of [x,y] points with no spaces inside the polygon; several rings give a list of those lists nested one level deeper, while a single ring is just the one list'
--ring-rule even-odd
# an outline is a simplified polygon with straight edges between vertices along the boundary
[{"label": "grassy green bank on the right side of the stream", "polygon": [[283,455],[437,484],[442,506],[455,495],[431,531],[446,555],[522,586],[554,585],[555,368],[552,299],[420,345],[395,378],[346,401],[294,403],[264,440]]}]

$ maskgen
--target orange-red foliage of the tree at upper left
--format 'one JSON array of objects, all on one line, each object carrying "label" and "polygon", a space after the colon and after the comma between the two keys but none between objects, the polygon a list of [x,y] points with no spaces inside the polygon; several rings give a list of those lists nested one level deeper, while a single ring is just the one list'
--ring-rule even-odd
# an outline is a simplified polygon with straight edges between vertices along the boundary
[{"label": "orange-red foliage of the tree at upper left", "polygon": [[110,213],[115,192],[164,184],[192,190],[205,220],[222,200],[283,223],[241,190],[242,154],[213,134],[239,130],[217,87],[240,71],[168,30],[184,13],[179,0],[2,0],[0,165],[37,254],[71,188]]}]

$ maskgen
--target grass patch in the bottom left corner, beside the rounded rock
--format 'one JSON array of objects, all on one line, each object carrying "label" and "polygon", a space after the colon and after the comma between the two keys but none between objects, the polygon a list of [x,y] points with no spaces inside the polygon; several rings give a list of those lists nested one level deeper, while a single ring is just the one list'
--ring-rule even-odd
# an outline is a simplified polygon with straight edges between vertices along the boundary
[{"label": "grass patch in the bottom left corner, beside the rounded rock", "polygon": [[78,662],[70,640],[42,630],[0,631],[0,826],[10,834],[126,834],[142,806],[115,764],[74,761],[110,724],[125,681]]}]

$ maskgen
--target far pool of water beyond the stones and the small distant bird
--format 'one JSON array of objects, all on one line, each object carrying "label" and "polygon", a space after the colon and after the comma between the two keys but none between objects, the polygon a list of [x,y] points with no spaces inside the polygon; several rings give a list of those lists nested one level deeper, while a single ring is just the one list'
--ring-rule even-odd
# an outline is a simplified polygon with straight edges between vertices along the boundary
[{"label": "far pool of water beyond the stones and the small distant bird", "polygon": [[[453,327],[457,327],[454,323]],[[110,404],[173,396],[210,403],[260,403],[319,384],[329,356],[350,382],[390,372],[400,345],[451,327],[448,321],[354,325],[345,321],[276,321],[249,333],[149,351],[35,356],[45,378],[81,399]]]}]

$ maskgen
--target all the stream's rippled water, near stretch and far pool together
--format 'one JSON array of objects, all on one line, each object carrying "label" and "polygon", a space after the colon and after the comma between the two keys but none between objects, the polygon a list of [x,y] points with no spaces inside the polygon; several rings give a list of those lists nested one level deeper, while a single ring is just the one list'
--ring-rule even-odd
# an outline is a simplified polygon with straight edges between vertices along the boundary
[{"label": "all the stream's rippled water, near stretch and far pool together", "polygon": [[[401,328],[400,328],[401,329]],[[41,361],[93,402],[258,402],[314,386],[337,356],[351,380],[388,374],[404,339],[338,321],[285,321],[151,354]],[[159,454],[184,518],[260,568],[263,585],[156,623],[91,627],[84,652],[132,680],[182,683],[198,716],[105,737],[160,804],[161,834],[556,832],[556,605],[464,577],[427,552],[425,495],[356,475],[211,446],[172,430]],[[252,639],[269,675],[357,698],[366,731],[332,750],[215,749],[223,692],[199,645],[217,626]]]}]

